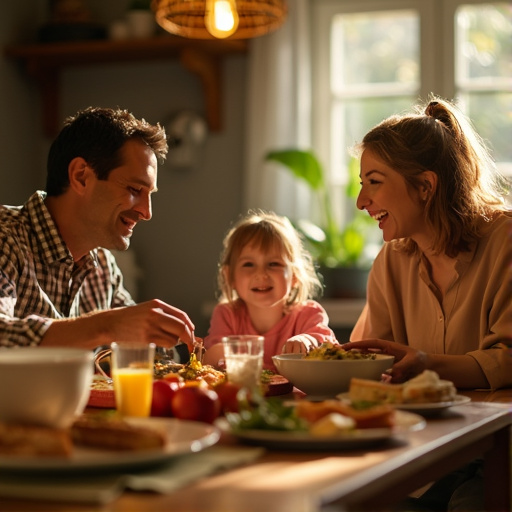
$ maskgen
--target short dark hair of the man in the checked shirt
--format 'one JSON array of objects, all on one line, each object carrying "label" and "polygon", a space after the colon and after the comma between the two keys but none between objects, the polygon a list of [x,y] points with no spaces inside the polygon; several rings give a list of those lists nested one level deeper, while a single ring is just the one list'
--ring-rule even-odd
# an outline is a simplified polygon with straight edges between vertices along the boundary
[{"label": "short dark hair of the man in the checked shirt", "polygon": [[121,148],[139,139],[155,153],[159,162],[167,155],[167,138],[160,124],[136,119],[127,110],[89,107],[64,121],[64,127],[50,147],[46,192],[58,196],[69,186],[68,166],[82,157],[100,180],[122,165]]}]

